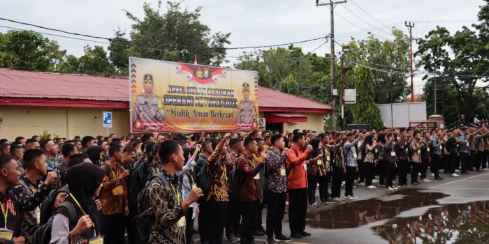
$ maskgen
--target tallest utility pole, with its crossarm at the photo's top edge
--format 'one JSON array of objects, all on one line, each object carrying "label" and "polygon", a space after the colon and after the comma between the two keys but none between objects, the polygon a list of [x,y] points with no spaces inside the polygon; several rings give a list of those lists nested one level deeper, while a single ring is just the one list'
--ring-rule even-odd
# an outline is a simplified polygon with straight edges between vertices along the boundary
[{"label": "tallest utility pole, with its crossarm at the photo's top edge", "polygon": [[330,18],[331,18],[331,33],[330,33],[330,42],[331,42],[331,128],[336,130],[336,96],[338,92],[336,91],[336,78],[335,78],[335,5],[340,3],[346,3],[345,1],[336,1],[330,0],[329,3],[319,3],[319,0],[316,0],[316,7],[319,6],[330,6]]}]

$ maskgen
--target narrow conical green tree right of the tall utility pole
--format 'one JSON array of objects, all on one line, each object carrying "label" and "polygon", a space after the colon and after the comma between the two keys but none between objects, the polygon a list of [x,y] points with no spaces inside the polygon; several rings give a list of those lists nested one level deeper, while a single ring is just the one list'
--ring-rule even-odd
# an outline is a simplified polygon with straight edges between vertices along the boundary
[{"label": "narrow conical green tree right of the tall utility pole", "polygon": [[354,123],[364,123],[369,128],[379,129],[383,126],[380,110],[374,102],[375,85],[372,71],[358,67],[355,70],[356,104],[353,105]]}]

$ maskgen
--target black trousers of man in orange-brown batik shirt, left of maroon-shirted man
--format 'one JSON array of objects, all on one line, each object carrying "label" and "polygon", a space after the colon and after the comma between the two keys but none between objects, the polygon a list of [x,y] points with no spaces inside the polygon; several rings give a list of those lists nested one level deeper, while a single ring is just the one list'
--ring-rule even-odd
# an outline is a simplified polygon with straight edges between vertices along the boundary
[{"label": "black trousers of man in orange-brown batik shirt, left of maroon-shirted man", "polygon": [[[228,201],[200,201],[198,232],[201,243],[204,241],[210,244],[222,243],[224,224],[228,215],[228,204]],[[219,218],[216,216],[219,216]],[[252,218],[253,215],[251,214],[250,216]]]}]

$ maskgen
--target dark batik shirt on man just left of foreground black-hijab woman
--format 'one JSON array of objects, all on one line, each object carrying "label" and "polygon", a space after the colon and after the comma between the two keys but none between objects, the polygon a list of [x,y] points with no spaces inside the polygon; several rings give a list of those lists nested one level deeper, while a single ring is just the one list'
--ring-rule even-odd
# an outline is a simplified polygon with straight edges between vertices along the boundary
[{"label": "dark batik shirt on man just left of foreground black-hijab woman", "polygon": [[20,184],[13,188],[17,195],[22,218],[22,234],[26,242],[31,243],[32,234],[38,228],[38,216],[41,214],[39,206],[48,197],[51,188],[41,180],[32,183],[26,176],[20,177]]}]

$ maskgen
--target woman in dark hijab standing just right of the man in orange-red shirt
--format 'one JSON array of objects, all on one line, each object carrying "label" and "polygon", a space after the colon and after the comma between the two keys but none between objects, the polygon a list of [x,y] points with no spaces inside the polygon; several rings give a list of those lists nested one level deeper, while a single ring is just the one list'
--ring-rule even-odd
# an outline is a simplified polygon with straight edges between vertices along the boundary
[{"label": "woman in dark hijab standing just right of the man in orange-red shirt", "polygon": [[[309,145],[312,146],[312,151],[309,153],[309,164],[307,165],[307,185],[309,185],[308,195],[309,195],[309,206],[317,207],[322,204],[316,202],[316,187],[318,184],[319,167],[318,160],[321,159],[322,155],[319,151],[319,143],[321,139],[314,137]],[[321,162],[322,163],[322,162]]]}]

